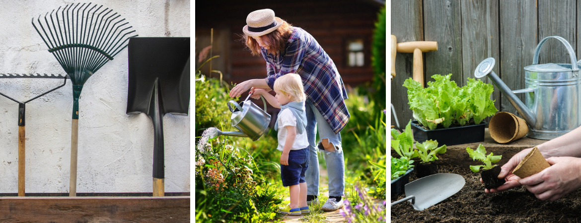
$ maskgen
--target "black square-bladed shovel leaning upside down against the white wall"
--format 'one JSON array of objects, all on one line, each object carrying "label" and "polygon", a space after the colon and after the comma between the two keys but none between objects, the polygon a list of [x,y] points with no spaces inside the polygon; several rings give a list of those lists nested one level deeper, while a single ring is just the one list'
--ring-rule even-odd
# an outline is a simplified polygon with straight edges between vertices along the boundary
[{"label": "black square-bladed shovel leaning upside down against the white wall", "polygon": [[153,122],[153,196],[164,195],[163,116],[188,115],[189,37],[131,38],[127,114]]}]

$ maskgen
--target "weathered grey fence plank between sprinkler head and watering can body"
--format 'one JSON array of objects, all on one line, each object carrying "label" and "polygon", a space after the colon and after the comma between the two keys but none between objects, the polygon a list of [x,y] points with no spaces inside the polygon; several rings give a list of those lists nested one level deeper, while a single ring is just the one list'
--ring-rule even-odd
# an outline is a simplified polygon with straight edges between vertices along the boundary
[{"label": "weathered grey fence plank between sprinkler head and watering can body", "polygon": [[[525,88],[524,68],[533,63],[537,39],[537,7],[533,1],[500,1],[500,78],[511,90]],[[499,75],[500,75],[499,74]],[[495,89],[496,90],[496,89]],[[517,94],[524,103],[525,94]],[[512,104],[501,95],[498,111],[518,115]],[[520,116],[520,115],[518,115]],[[522,116],[520,116],[522,117]]]}]

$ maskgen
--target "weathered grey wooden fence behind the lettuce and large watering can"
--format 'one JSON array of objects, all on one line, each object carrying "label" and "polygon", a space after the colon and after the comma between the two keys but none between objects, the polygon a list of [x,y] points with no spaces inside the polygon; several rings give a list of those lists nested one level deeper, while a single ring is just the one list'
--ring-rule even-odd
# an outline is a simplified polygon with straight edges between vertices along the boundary
[{"label": "weathered grey wooden fence behind the lettuce and large watering can", "polygon": [[[458,86],[474,78],[478,64],[493,57],[493,71],[511,90],[525,88],[523,68],[531,65],[539,41],[546,36],[565,38],[577,52],[581,31],[581,2],[572,0],[392,0],[391,34],[397,42],[436,41],[435,52],[424,53],[424,80],[434,74],[453,74]],[[578,57],[579,60],[579,57]],[[560,41],[549,40],[539,63],[571,63]],[[396,77],[390,83],[391,103],[401,127],[413,119],[403,82],[411,78],[413,53],[397,53]],[[492,83],[488,78],[483,82]],[[427,86],[427,85],[425,85]],[[521,100],[523,94],[517,94]],[[517,114],[494,87],[498,111]],[[486,119],[486,122],[490,118]],[[395,125],[392,116],[392,125]]]}]

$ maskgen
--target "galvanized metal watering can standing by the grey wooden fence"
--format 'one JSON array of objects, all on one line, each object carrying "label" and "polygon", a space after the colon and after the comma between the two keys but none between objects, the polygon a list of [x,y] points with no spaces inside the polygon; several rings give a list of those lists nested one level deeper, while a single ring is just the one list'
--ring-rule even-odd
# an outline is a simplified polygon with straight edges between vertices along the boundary
[{"label": "galvanized metal watering can standing by the grey wooden fence", "polygon": [[[550,38],[561,41],[571,57],[572,64],[539,64],[541,46]],[[492,71],[494,59],[482,61],[474,76],[488,76],[508,101],[517,109],[529,126],[530,138],[551,140],[581,125],[581,79],[573,47],[561,36],[548,36],[535,49],[533,64],[525,67],[525,89],[512,91]],[[525,103],[515,95],[525,93]]]}]

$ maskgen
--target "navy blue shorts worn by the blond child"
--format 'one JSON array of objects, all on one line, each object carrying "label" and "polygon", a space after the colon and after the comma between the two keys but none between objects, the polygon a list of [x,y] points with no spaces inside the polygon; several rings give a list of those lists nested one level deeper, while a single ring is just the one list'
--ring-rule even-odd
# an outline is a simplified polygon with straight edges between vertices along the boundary
[{"label": "navy blue shorts worn by the blond child", "polygon": [[297,185],[304,181],[304,173],[309,167],[309,148],[289,151],[289,164],[281,164],[282,187]]}]

